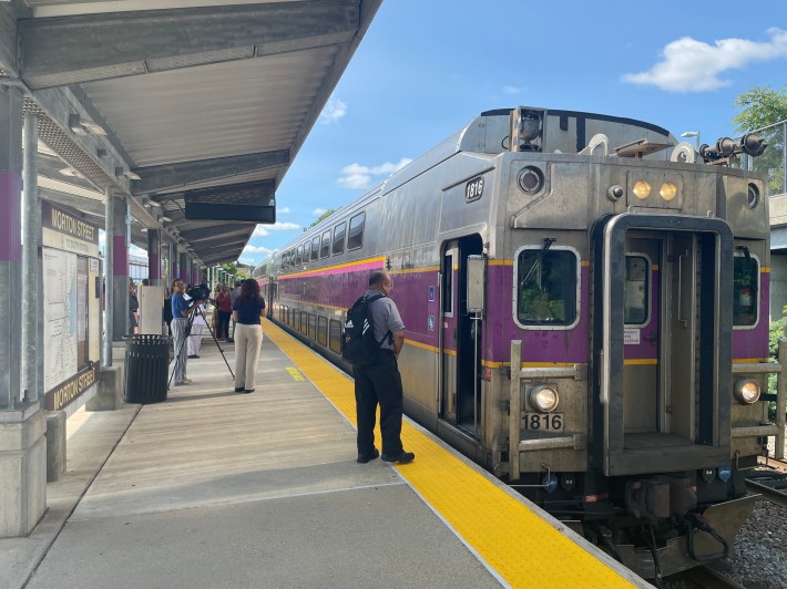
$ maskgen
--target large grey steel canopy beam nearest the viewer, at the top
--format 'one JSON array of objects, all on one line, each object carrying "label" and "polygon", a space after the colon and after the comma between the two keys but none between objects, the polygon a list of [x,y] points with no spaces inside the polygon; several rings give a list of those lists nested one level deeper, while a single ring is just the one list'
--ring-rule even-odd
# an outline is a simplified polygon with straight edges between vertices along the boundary
[{"label": "large grey steel canopy beam nearest the viewer, at the top", "polygon": [[348,43],[359,19],[358,0],[311,0],[23,19],[17,28],[22,79],[41,89]]}]

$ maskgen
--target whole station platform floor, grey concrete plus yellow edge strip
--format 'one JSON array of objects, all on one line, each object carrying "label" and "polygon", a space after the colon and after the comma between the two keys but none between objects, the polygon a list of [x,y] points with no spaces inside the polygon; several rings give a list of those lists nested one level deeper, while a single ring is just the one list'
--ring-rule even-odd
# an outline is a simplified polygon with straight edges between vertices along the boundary
[{"label": "whole station platform floor, grey concrete plus yellow edge strip", "polygon": [[650,587],[409,421],[413,463],[357,464],[351,379],[265,332],[253,394],[205,339],[165,402],[75,413],[0,587]]}]

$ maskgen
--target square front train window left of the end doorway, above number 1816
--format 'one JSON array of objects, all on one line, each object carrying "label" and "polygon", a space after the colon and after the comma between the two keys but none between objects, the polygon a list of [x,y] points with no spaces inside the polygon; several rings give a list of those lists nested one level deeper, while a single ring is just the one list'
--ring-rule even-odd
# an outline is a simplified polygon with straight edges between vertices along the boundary
[{"label": "square front train window left of the end doorway, above number 1816", "polygon": [[517,260],[517,319],[522,326],[571,326],[576,320],[576,255],[525,248]]}]

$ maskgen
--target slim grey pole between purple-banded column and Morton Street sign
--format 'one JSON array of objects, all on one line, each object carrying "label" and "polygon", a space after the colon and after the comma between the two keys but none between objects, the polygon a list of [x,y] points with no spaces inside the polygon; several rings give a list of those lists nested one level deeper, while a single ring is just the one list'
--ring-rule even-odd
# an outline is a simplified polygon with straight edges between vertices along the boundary
[{"label": "slim grey pole between purple-banded column and Morton Street sign", "polygon": [[43,396],[43,277],[41,199],[38,190],[38,116],[24,115],[24,189],[22,193],[22,390],[24,401]]}]

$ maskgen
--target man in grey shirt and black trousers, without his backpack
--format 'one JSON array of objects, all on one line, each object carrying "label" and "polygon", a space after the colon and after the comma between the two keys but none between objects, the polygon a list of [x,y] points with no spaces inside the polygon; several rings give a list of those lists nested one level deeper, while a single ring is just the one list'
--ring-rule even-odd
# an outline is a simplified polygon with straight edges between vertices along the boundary
[{"label": "man in grey shirt and black trousers, without his backpack", "polygon": [[416,458],[401,445],[401,417],[403,393],[399,374],[399,352],[405,344],[405,322],[399,309],[390,299],[394,281],[388,272],[377,271],[369,277],[366,297],[382,292],[369,303],[368,317],[380,342],[374,363],[352,366],[355,374],[356,417],[358,423],[358,462],[361,464],[380,456],[375,447],[375,421],[380,405],[380,432],[382,434],[382,459],[407,464]]}]

